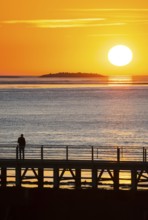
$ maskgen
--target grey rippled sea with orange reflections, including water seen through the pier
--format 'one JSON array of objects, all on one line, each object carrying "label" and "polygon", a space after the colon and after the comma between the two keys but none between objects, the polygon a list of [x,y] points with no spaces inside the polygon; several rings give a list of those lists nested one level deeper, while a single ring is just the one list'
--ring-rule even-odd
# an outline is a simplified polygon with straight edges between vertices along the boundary
[{"label": "grey rippled sea with orange reflections, including water seen through the pier", "polygon": [[[148,147],[147,97],[147,83],[71,77],[1,77],[0,158],[16,158],[17,140],[24,134],[28,159],[41,158],[43,146],[45,159],[66,159],[68,152],[69,159],[91,160],[94,147],[95,160],[116,161],[116,149],[120,147],[122,161],[142,161],[143,148]],[[84,188],[90,187],[90,171],[83,172]],[[13,186],[14,171],[8,173],[13,176],[9,178],[9,185]],[[52,179],[52,171],[50,175]],[[73,187],[71,176],[67,175],[61,187]],[[130,175],[128,171],[121,173],[120,184],[125,189],[128,184],[130,188]],[[99,187],[106,187],[105,184]],[[53,187],[50,180],[46,185]]]}]

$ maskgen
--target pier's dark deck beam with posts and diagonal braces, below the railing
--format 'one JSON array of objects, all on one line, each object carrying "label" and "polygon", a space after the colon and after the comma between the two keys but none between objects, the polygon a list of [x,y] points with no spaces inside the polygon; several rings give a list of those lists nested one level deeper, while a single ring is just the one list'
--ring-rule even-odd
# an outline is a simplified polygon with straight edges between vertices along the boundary
[{"label": "pier's dark deck beam with posts and diagonal braces, below the railing", "polygon": [[[6,187],[6,180],[10,177],[7,176],[7,170],[15,171],[16,177],[16,186],[20,187],[22,184],[22,179],[25,178],[25,175],[28,169],[31,169],[38,181],[40,187],[43,187],[44,180],[44,169],[53,170],[53,185],[55,188],[59,188],[60,180],[64,175],[64,172],[68,170],[72,175],[72,178],[75,180],[76,188],[81,188],[81,170],[86,169],[92,172],[90,177],[90,184],[93,188],[97,188],[99,184],[102,184],[102,175],[107,171],[110,175],[110,180],[113,180],[114,190],[119,190],[119,172],[121,171],[130,171],[131,172],[131,189],[137,190],[138,182],[148,182],[147,171],[148,171],[148,162],[111,162],[111,161],[81,161],[81,160],[0,160],[1,168],[1,186]],[[38,169],[38,172],[37,172]],[[61,175],[59,176],[59,170],[62,170]],[[21,170],[23,174],[21,176]],[[99,174],[99,175],[98,175]],[[98,175],[98,176],[97,176]],[[103,185],[109,186],[110,183],[107,182],[107,178],[103,179]],[[62,183],[61,183],[62,184]],[[140,185],[139,185],[140,186]]]}]

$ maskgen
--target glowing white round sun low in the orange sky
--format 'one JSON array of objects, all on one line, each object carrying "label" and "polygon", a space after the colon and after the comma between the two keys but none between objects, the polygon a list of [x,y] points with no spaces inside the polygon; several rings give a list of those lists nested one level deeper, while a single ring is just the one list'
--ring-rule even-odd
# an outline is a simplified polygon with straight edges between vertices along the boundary
[{"label": "glowing white round sun low in the orange sky", "polygon": [[125,45],[116,45],[108,52],[108,60],[115,66],[125,66],[132,61],[133,53]]}]

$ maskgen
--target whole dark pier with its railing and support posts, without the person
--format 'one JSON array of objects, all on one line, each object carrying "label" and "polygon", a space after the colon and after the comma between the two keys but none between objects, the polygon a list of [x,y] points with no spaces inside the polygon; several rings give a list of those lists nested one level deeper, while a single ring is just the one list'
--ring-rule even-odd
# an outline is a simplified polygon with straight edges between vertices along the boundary
[{"label": "whole dark pier with its railing and support posts, without the person", "polygon": [[77,150],[68,146],[46,149],[41,146],[26,149],[24,160],[19,159],[18,148],[9,151],[10,155],[5,152],[6,147],[3,147],[0,152],[1,188],[148,189],[146,148],[88,147]]}]

